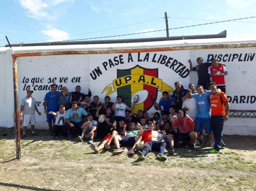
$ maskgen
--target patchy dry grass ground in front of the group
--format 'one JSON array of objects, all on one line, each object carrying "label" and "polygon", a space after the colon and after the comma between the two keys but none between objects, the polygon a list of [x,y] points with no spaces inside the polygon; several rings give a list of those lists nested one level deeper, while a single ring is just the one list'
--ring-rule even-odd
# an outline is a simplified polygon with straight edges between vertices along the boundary
[{"label": "patchy dry grass ground in front of the group", "polygon": [[113,146],[94,154],[87,142],[40,131],[21,140],[15,160],[12,132],[0,129],[0,190],[256,190],[255,137],[224,136],[227,148],[218,154],[204,144],[178,148],[162,162],[153,152],[144,161],[113,156]]}]

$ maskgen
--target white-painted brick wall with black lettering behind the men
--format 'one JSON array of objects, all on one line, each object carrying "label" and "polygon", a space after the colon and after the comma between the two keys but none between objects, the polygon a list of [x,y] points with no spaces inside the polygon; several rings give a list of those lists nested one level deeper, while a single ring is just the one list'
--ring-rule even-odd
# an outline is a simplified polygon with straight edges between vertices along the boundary
[{"label": "white-painted brick wall with black lettering behind the men", "polygon": [[[193,40],[190,44],[199,44],[195,43]],[[147,44],[150,46],[160,46],[166,45],[166,42],[157,42]],[[162,44],[161,44],[162,43]],[[169,43],[172,44],[173,42]],[[182,41],[177,42],[178,44],[182,44]],[[211,43],[210,41],[207,43]],[[144,47],[145,44],[142,43],[132,43],[134,47]],[[202,44],[202,43],[201,43]],[[172,44],[173,45],[173,44]],[[97,47],[98,46],[98,47]],[[105,48],[124,48],[124,46],[131,47],[131,44],[117,44],[117,45],[79,45],[79,46],[51,46],[51,47],[15,47],[11,50],[0,51],[0,87],[5,93],[0,98],[0,106],[2,108],[7,108],[6,110],[1,110],[0,115],[0,126],[4,127],[12,127],[13,126],[13,77],[12,77],[12,57],[11,53],[21,52],[21,51],[38,51],[38,50],[68,50],[68,49],[105,49]],[[187,62],[188,59],[191,59],[193,66],[196,65],[196,58],[201,56],[204,61],[207,61],[208,54],[241,54],[241,58],[243,59],[245,54],[249,53],[255,54],[255,48],[237,48],[237,49],[205,49],[205,50],[181,50],[181,51],[165,51],[165,52],[150,52],[149,53],[149,61],[138,61],[138,53],[132,53],[133,62],[130,61],[128,63],[128,54],[91,54],[91,55],[57,55],[57,56],[31,56],[31,57],[21,57],[18,58],[18,81],[19,81],[19,101],[26,96],[26,87],[29,85],[31,89],[34,89],[33,97],[35,97],[36,101],[38,101],[39,111],[43,114],[44,108],[42,106],[44,95],[49,90],[38,90],[38,86],[40,85],[50,85],[52,82],[48,83],[48,79],[56,78],[56,84],[67,86],[69,91],[74,91],[76,85],[80,85],[82,87],[81,92],[87,93],[88,88],[92,91],[92,97],[94,95],[98,95],[100,101],[104,102],[104,97],[106,96],[107,91],[102,92],[103,89],[112,84],[113,80],[117,78],[117,70],[129,70],[139,65],[145,69],[157,69],[158,70],[158,78],[159,81],[162,80],[163,83],[167,84],[169,87],[174,87],[174,82],[179,80],[182,82],[183,86],[187,88],[190,82],[194,82],[197,85],[197,74],[196,72],[191,72],[186,78],[182,78],[175,71],[169,68],[169,66],[165,66],[165,64],[152,62],[154,54],[156,54],[156,59],[159,56],[166,55],[168,58],[171,57],[172,62],[176,59],[178,62],[182,63],[185,66],[185,70],[189,69],[189,64]],[[122,55],[122,56],[120,56]],[[144,58],[146,53],[140,53],[140,59]],[[105,61],[119,56],[123,59],[123,64],[118,64],[115,66],[107,66],[107,70],[105,70],[102,63]],[[167,58],[167,60],[168,60]],[[231,57],[232,58],[232,57]],[[114,62],[114,61],[113,61]],[[256,81],[255,70],[256,70],[256,56],[252,59],[252,61],[238,61],[238,58],[232,59],[230,61],[223,61],[225,63],[228,70],[228,75],[225,76],[226,86],[227,86],[227,96],[234,100],[235,96],[238,96],[238,103],[236,101],[234,103],[231,102],[231,109],[239,109],[239,110],[256,110],[256,102],[250,103],[250,96],[255,96],[255,88],[249,88],[247,85],[248,82]],[[102,75],[97,76],[97,79],[93,80],[90,76],[92,71],[99,67],[102,72]],[[177,68],[177,65],[174,66],[174,70]],[[182,67],[180,67],[182,68]],[[133,70],[134,71],[134,70]],[[28,78],[28,83],[23,83],[23,79]],[[68,78],[66,83],[60,83],[60,78]],[[80,82],[73,83],[73,77],[80,77]],[[134,76],[133,76],[134,77]],[[33,83],[31,79],[40,78],[42,83]],[[133,78],[132,78],[133,79]],[[155,82],[155,81],[154,81]],[[150,81],[149,81],[150,83]],[[160,83],[160,82],[159,82]],[[158,83],[158,84],[159,84]],[[163,83],[160,83],[163,85]],[[26,84],[26,85],[25,85]],[[133,84],[133,83],[132,83]],[[253,83],[251,84],[251,86]],[[24,90],[25,86],[25,90]],[[143,88],[139,84],[131,85],[133,88],[132,95],[142,90]],[[124,86],[128,87],[128,86]],[[152,87],[152,86],[150,86]],[[127,90],[128,92],[128,90]],[[130,96],[132,96],[130,95]],[[162,93],[158,91],[157,102],[160,100]],[[117,96],[117,92],[113,92],[110,94],[111,101],[115,101],[115,97]],[[245,103],[241,101],[240,96],[245,96]],[[249,96],[248,103],[247,96]],[[91,98],[92,98],[91,97]],[[140,100],[145,100],[147,97],[146,94],[140,94]],[[127,101],[127,100],[125,100]],[[41,102],[41,103],[40,103]],[[136,106],[136,110],[140,109],[139,106]],[[154,112],[154,107],[151,107],[148,110],[148,113]],[[36,114],[36,128],[48,128],[46,123],[46,115],[37,116]],[[247,119],[247,118],[230,118],[225,123],[224,133],[227,135],[256,135],[255,128],[255,119]]]}]

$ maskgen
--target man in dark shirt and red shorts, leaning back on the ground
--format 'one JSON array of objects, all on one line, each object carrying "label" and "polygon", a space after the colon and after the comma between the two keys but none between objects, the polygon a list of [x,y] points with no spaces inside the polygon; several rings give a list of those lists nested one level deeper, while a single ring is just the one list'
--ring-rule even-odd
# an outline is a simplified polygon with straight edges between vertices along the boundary
[{"label": "man in dark shirt and red shorts, leaning back on the ground", "polygon": [[118,125],[116,125],[116,121],[113,122],[112,125],[112,135],[111,133],[109,135],[107,135],[106,137],[103,138],[102,143],[97,147],[95,143],[91,143],[91,149],[95,152],[95,153],[99,153],[99,151],[103,150],[105,148],[105,150],[109,149],[110,144],[113,143],[113,137],[115,135],[122,135],[125,136],[125,121],[121,120],[119,121]]}]

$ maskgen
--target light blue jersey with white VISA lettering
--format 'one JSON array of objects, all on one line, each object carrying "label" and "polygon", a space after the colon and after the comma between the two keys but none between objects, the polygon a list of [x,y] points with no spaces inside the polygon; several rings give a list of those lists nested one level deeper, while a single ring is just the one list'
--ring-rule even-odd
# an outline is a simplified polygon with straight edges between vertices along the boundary
[{"label": "light blue jersey with white VISA lettering", "polygon": [[212,91],[203,92],[201,95],[198,93],[192,96],[197,101],[197,117],[209,118],[211,117],[210,94]]}]

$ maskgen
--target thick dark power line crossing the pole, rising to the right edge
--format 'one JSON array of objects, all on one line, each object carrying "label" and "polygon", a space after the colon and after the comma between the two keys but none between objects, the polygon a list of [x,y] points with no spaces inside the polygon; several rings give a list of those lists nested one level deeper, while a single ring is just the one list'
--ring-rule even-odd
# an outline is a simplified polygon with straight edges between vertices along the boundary
[{"label": "thick dark power line crossing the pole, rising to the right edge", "polygon": [[[223,23],[223,22],[228,22],[228,21],[233,21],[233,20],[249,19],[249,18],[255,18],[255,17],[256,17],[256,16],[254,16],[254,17],[240,18],[240,19],[232,19],[232,20],[223,20],[223,21],[212,22],[212,23],[196,24],[196,25],[190,25],[190,26],[186,26],[186,27],[170,28],[169,30],[181,29],[181,28],[188,28],[188,27],[195,27],[195,26],[207,25],[207,24]],[[91,39],[109,38],[109,37],[121,37],[121,36],[133,35],[133,34],[143,34],[143,33],[158,32],[158,31],[163,31],[163,30],[166,30],[166,29],[152,30],[152,31],[140,32],[140,33],[120,34],[120,35],[113,35],[113,36],[107,36],[107,37],[94,37],[94,38],[84,38],[84,39],[75,39],[75,40],[63,40],[63,41],[56,41],[56,42],[51,42],[51,43],[69,42],[69,41],[77,41],[77,40],[91,40]]]}]

